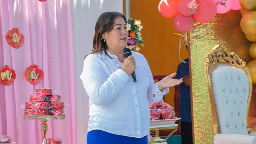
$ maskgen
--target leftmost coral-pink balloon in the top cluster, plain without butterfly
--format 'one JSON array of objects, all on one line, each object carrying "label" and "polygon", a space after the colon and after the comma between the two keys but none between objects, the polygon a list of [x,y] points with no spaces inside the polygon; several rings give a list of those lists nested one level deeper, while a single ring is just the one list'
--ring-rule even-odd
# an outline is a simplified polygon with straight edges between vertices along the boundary
[{"label": "leftmost coral-pink balloon in the top cluster, plain without butterfly", "polygon": [[179,13],[177,4],[178,0],[161,0],[158,5],[158,10],[165,18],[172,18]]}]

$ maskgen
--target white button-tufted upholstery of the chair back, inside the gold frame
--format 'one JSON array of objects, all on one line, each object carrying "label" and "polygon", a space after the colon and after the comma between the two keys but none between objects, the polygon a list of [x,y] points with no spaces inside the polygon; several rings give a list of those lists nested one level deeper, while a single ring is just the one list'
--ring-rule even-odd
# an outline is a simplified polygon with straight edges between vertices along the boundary
[{"label": "white button-tufted upholstery of the chair back, inside the gold frame", "polygon": [[248,135],[246,108],[249,81],[244,71],[218,65],[211,72],[213,97],[220,133]]}]

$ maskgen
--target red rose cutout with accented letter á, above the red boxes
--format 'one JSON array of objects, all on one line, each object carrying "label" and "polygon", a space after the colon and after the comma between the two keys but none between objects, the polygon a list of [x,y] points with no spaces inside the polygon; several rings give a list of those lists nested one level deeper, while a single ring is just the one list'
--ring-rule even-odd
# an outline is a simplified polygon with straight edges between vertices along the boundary
[{"label": "red rose cutout with accented letter \u00e1, above the red boxes", "polygon": [[24,72],[25,79],[31,84],[38,84],[43,79],[43,71],[37,65],[30,65]]}]

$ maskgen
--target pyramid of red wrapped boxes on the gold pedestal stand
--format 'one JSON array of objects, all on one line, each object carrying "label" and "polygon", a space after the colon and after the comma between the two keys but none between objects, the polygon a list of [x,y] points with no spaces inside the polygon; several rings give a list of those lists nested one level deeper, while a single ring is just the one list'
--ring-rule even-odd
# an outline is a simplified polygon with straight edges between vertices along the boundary
[{"label": "pyramid of red wrapped boxes on the gold pedestal stand", "polygon": [[66,103],[61,102],[60,95],[52,95],[52,91],[52,88],[37,88],[36,94],[30,95],[30,101],[25,102],[24,115],[64,115]]}]

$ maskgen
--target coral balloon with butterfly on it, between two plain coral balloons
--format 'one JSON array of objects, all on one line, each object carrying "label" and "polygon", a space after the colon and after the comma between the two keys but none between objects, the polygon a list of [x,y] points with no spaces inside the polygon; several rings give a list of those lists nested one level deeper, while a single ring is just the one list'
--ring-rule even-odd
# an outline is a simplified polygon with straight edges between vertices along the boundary
[{"label": "coral balloon with butterfly on it, between two plain coral balloons", "polygon": [[183,16],[191,16],[196,12],[197,2],[196,0],[179,0],[177,8]]}]

